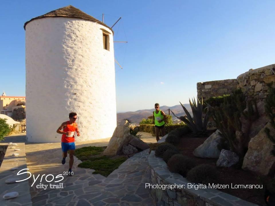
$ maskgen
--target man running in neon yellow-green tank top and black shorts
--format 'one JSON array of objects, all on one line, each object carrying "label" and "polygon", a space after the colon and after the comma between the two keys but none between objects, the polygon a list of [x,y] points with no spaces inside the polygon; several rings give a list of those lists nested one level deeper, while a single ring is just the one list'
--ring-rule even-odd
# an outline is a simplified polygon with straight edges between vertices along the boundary
[{"label": "man running in neon yellow-green tank top and black shorts", "polygon": [[159,133],[161,130],[162,136],[164,136],[164,124],[166,120],[166,115],[162,110],[160,110],[160,105],[158,103],[155,104],[155,111],[153,112],[153,124],[155,124],[155,133],[156,133],[156,140],[160,140]]}]

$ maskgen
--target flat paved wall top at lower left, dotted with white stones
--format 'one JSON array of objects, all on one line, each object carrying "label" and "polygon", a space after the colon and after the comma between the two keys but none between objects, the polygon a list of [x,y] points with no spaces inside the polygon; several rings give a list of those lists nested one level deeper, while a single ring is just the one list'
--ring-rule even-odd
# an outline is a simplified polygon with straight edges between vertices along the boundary
[{"label": "flat paved wall top at lower left, dotted with white stones", "polygon": [[[0,143],[0,146],[7,146],[7,143]],[[26,205],[32,206],[30,186],[28,181],[6,183],[7,179],[19,178],[26,179],[29,175],[22,174],[17,176],[16,174],[21,169],[27,168],[25,143],[17,143],[15,146],[19,151],[14,151],[15,148],[11,148],[12,145],[8,145],[5,157],[0,167],[0,205]],[[18,156],[12,156],[13,153],[18,153]],[[17,167],[15,170],[12,168]],[[23,171],[25,172],[25,171]],[[10,192],[17,192],[19,195],[16,198],[5,200],[3,195]]]}]

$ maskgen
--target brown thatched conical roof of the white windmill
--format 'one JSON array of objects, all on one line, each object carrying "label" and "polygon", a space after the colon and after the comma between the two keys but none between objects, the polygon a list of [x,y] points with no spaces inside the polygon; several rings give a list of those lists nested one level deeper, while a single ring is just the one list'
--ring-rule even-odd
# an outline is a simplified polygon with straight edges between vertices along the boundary
[{"label": "brown thatched conical roof of the white windmill", "polygon": [[[27,21],[24,24],[24,29],[26,30],[26,25],[31,22],[34,19],[40,19],[40,18],[46,18],[46,17],[74,17],[74,18],[78,18],[78,19],[85,19],[85,20],[89,20],[89,21],[94,21],[97,22],[109,29],[111,29],[109,26],[107,26],[105,23],[102,23],[101,21],[99,21],[98,19],[88,15],[87,13],[81,11],[80,9],[77,9],[76,7],[73,7],[72,5],[68,5],[66,7],[62,7],[60,9],[56,9],[54,11],[50,11],[44,15],[38,16],[38,17],[34,17],[32,18],[30,21]],[[111,29],[111,31],[114,33],[113,29]]]}]

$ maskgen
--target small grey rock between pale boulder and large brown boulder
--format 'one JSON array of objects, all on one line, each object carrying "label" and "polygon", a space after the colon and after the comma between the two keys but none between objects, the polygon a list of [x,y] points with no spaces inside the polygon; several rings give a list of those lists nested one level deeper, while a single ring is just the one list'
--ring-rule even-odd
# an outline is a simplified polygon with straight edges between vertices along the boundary
[{"label": "small grey rock between pale boulder and large brown boulder", "polygon": [[216,163],[217,167],[231,167],[239,162],[239,156],[235,152],[222,149],[220,157]]}]

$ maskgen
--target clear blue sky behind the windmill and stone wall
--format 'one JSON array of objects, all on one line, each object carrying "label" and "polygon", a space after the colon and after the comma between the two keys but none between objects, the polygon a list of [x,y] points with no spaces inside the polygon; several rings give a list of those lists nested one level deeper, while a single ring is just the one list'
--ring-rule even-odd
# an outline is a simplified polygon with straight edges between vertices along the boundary
[{"label": "clear blue sky behind the windmill and stone wall", "polygon": [[115,25],[117,111],[188,103],[197,82],[275,63],[275,1],[2,1],[0,92],[25,96],[25,30],[33,17],[74,7]]}]

